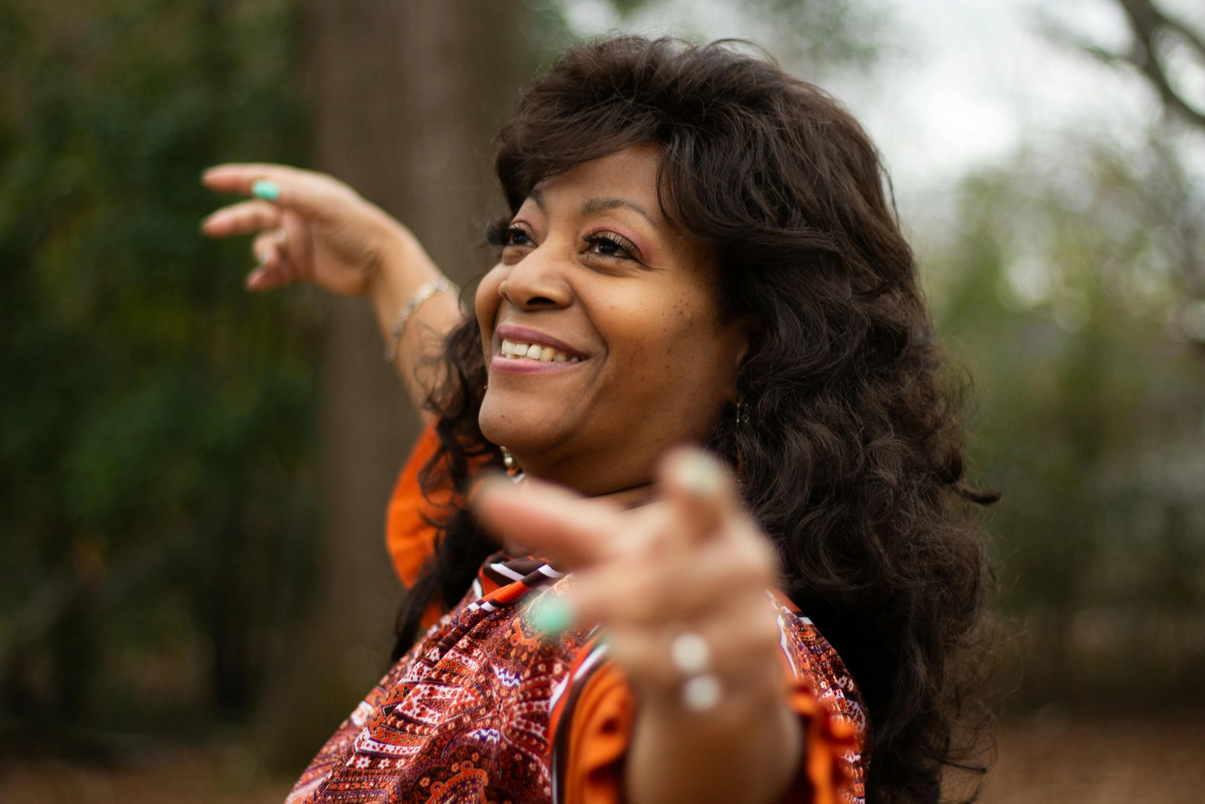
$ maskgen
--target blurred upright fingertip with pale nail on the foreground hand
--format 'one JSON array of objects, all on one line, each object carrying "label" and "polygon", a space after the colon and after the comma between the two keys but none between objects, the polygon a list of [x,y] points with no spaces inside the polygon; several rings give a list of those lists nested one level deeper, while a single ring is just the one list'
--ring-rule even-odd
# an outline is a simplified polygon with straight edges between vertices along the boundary
[{"label": "blurred upright fingertip with pale nail on the foreground hand", "polygon": [[676,511],[681,538],[698,542],[741,515],[728,471],[701,450],[682,448],[666,456],[660,470],[665,499]]}]

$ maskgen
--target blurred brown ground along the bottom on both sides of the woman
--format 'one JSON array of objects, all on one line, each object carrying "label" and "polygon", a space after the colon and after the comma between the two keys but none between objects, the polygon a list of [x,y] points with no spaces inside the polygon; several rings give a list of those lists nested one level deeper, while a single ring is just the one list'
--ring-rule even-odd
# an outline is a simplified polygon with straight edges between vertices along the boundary
[{"label": "blurred brown ground along the bottom on both sides of the woman", "polygon": [[[234,747],[172,749],[124,767],[0,765],[4,804],[280,804],[287,779]],[[1087,720],[1058,712],[1004,724],[984,804],[1199,804],[1205,718]]]}]

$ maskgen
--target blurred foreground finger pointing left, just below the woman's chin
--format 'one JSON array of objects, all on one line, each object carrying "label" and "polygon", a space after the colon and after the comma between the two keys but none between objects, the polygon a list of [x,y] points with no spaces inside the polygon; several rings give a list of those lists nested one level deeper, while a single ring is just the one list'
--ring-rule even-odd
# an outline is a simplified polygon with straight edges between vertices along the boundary
[{"label": "blurred foreground finger pointing left, just below the woman's chin", "polygon": [[604,559],[617,512],[564,488],[527,479],[482,481],[470,495],[478,521],[495,536],[513,539],[558,569],[574,570]]}]

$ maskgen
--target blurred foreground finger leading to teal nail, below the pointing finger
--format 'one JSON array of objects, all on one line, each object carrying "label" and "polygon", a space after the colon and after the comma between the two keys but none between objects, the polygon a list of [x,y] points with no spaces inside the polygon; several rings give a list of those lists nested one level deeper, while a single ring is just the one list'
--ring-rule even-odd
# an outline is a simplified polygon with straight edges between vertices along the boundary
[{"label": "blurred foreground finger leading to teal nail, below the pointing finger", "polygon": [[774,570],[774,551],[754,534],[713,541],[686,559],[616,559],[587,568],[568,597],[582,622],[653,627],[764,598]]}]

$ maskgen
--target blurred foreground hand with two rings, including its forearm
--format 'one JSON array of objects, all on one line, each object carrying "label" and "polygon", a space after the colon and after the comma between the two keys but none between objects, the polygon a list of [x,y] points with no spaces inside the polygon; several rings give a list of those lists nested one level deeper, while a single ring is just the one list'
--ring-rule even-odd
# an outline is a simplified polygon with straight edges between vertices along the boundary
[{"label": "blurred foreground hand with two rings, including its forearm", "polygon": [[704,453],[670,454],[658,492],[624,511],[539,481],[498,480],[472,500],[492,532],[574,571],[566,594],[537,601],[537,621],[606,629],[640,703],[629,800],[776,800],[801,738],[766,599],[774,550]]}]

